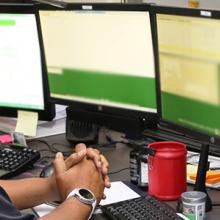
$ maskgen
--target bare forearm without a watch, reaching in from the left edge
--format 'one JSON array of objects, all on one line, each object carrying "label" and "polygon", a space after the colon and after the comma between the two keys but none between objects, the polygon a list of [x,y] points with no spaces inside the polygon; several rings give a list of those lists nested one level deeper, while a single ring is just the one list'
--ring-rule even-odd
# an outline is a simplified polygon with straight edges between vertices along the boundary
[{"label": "bare forearm without a watch, reaching in from the left edge", "polygon": [[0,186],[18,209],[33,207],[54,199],[47,178],[0,180]]}]

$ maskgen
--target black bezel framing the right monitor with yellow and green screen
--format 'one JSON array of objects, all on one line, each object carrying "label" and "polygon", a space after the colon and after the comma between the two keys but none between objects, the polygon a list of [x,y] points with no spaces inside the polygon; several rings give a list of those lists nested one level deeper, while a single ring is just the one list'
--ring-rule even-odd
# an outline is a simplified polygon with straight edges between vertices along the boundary
[{"label": "black bezel framing the right monitor with yellow and green screen", "polygon": [[168,6],[152,6],[152,14],[155,19],[155,30],[156,30],[156,45],[157,45],[157,54],[158,54],[158,80],[157,80],[157,100],[158,100],[158,124],[162,129],[168,129],[170,131],[178,132],[182,136],[189,137],[194,140],[198,140],[204,143],[211,143],[220,145],[220,137],[215,135],[210,135],[201,131],[197,131],[193,128],[189,128],[177,123],[168,121],[162,116],[162,105],[161,105],[161,90],[160,90],[160,69],[159,69],[159,45],[158,45],[158,36],[157,36],[157,14],[168,14],[168,15],[180,15],[180,16],[190,16],[198,17],[204,19],[220,19],[220,11],[201,9],[201,8],[180,8],[180,7],[168,7]]}]

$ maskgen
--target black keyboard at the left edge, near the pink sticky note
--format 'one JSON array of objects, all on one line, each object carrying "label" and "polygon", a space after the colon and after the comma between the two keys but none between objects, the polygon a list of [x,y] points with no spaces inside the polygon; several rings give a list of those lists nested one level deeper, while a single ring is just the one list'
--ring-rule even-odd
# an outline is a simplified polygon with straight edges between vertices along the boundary
[{"label": "black keyboard at the left edge, near the pink sticky note", "polygon": [[0,179],[9,179],[30,168],[40,153],[30,147],[0,145]]}]

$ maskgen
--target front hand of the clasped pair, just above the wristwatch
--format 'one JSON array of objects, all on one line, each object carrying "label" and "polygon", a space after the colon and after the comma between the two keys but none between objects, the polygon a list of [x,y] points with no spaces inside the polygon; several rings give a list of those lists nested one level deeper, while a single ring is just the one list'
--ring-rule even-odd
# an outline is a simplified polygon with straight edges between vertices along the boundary
[{"label": "front hand of the clasped pair, just above the wristwatch", "polygon": [[61,199],[64,200],[74,188],[84,187],[94,193],[99,203],[103,198],[104,191],[104,180],[101,171],[97,169],[91,159],[86,157],[69,169],[67,169],[68,163],[69,161],[64,161],[61,153],[57,153],[54,160],[54,176]]}]

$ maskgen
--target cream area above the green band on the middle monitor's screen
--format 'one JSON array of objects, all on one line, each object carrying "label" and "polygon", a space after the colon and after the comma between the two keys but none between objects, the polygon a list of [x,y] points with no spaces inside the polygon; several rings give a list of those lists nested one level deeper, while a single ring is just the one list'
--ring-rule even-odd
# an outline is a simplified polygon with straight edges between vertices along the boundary
[{"label": "cream area above the green band on the middle monitor's screen", "polygon": [[154,77],[148,12],[40,11],[40,19],[49,70]]}]

